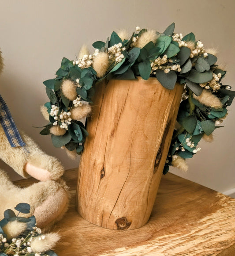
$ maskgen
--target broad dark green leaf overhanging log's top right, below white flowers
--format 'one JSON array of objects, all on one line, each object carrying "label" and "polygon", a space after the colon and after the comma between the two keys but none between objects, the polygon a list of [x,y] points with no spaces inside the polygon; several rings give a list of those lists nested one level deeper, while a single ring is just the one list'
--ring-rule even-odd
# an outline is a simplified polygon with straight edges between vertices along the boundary
[{"label": "broad dark green leaf overhanging log's top right, below white flowers", "polygon": [[177,75],[175,71],[171,70],[169,73],[165,73],[164,70],[157,69],[156,77],[163,87],[170,90],[175,88],[175,83],[177,80]]}]

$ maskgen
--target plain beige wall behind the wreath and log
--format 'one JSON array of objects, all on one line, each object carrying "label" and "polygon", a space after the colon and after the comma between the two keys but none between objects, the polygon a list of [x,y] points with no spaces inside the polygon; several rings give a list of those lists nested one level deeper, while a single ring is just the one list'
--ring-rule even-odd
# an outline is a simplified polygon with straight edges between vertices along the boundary
[{"label": "plain beige wall behind the wreath and log", "polygon": [[[62,149],[41,136],[47,122],[40,105],[48,101],[44,80],[55,77],[63,57],[75,59],[82,44],[104,41],[112,31],[136,26],[163,32],[175,22],[175,33],[194,32],[206,47],[218,50],[218,63],[226,63],[223,83],[235,90],[234,0],[0,0],[0,49],[5,69],[0,94],[18,125],[45,152],[56,156],[65,168],[78,166]],[[200,143],[201,151],[188,160],[190,170],[171,172],[216,191],[235,191],[235,103],[215,141]],[[19,178],[0,162],[12,179]]]}]

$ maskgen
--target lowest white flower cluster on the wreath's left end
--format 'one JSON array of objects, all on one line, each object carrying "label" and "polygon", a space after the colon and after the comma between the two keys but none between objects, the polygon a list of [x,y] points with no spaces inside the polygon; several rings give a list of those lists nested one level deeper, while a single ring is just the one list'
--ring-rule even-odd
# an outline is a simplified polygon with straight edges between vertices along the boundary
[{"label": "lowest white flower cluster on the wreath's left end", "polygon": [[72,118],[71,116],[71,112],[68,111],[61,111],[60,115],[58,115],[59,113],[59,107],[57,107],[56,105],[52,105],[52,109],[50,111],[50,115],[54,118],[55,122],[53,122],[53,126],[57,126],[58,122],[61,122],[60,128],[65,128],[65,130],[68,130],[68,125],[71,124]]}]

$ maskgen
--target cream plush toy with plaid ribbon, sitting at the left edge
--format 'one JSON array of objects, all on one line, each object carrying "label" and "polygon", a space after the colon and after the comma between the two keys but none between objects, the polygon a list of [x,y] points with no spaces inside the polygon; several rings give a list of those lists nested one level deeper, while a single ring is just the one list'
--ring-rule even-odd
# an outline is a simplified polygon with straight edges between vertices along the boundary
[{"label": "cream plush toy with plaid ribbon, sitting at the left edge", "polygon": [[[0,51],[0,73],[2,69]],[[29,187],[20,188],[0,169],[0,220],[4,217],[4,210],[14,210],[18,203],[30,204],[28,217],[35,216],[37,227],[52,225],[62,218],[68,205],[67,186],[60,179],[63,167],[56,158],[42,152],[31,138],[23,133],[19,134],[1,96],[0,159],[22,177],[30,175],[40,180]]]}]

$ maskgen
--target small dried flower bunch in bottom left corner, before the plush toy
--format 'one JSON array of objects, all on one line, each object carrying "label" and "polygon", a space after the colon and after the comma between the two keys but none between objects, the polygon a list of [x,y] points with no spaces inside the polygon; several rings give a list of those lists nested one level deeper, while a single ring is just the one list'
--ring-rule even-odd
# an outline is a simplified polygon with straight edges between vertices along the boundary
[{"label": "small dried flower bunch in bottom left corner, before the plush toy", "polygon": [[[15,210],[19,210],[19,213],[29,213],[30,205],[19,203]],[[51,250],[60,239],[57,233],[42,234],[34,216],[19,217],[19,214],[16,216],[11,209],[5,210],[4,216],[0,221],[1,256],[57,256]]]}]

